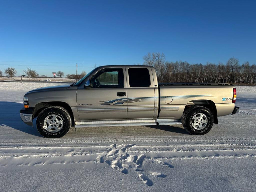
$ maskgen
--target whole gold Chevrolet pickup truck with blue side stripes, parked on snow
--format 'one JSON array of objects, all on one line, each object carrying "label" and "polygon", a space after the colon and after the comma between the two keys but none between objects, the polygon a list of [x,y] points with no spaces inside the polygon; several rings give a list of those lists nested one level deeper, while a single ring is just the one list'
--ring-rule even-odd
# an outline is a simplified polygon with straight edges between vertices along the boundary
[{"label": "whole gold Chevrolet pickup truck with blue side stripes, parked on snow", "polygon": [[174,124],[204,135],[219,116],[239,111],[236,96],[231,84],[158,83],[151,66],[102,66],[70,86],[27,92],[20,116],[28,125],[37,117],[47,138],[62,137],[72,126]]}]

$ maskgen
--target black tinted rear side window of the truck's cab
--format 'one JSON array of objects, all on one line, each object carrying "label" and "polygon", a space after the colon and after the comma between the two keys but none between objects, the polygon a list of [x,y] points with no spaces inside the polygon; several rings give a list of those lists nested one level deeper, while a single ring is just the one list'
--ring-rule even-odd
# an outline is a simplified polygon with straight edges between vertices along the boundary
[{"label": "black tinted rear side window of the truck's cab", "polygon": [[151,80],[147,68],[129,68],[130,87],[150,87]]}]

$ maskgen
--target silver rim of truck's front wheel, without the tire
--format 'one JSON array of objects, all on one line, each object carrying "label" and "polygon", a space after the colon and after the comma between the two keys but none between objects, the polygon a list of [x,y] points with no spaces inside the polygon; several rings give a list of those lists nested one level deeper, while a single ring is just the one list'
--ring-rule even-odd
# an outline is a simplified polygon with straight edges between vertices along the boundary
[{"label": "silver rim of truck's front wheel, without the tire", "polygon": [[63,127],[63,120],[59,115],[49,115],[45,118],[44,128],[50,133],[59,132]]}]

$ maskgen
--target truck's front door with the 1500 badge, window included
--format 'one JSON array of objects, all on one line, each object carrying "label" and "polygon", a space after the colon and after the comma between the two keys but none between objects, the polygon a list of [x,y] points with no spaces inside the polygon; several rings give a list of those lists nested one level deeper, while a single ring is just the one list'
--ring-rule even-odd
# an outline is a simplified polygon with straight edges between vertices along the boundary
[{"label": "truck's front door with the 1500 badge, window included", "polygon": [[92,88],[78,89],[80,120],[127,119],[125,67],[100,69],[91,79]]}]

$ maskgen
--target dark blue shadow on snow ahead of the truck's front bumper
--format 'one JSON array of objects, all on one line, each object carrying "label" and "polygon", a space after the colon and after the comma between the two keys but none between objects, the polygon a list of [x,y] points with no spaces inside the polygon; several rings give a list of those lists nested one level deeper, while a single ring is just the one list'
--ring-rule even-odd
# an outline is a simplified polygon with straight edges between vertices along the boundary
[{"label": "dark blue shadow on snow ahead of the truck's front bumper", "polygon": [[23,108],[23,103],[0,101],[0,126],[8,126],[30,135],[42,137],[35,126],[33,129],[20,119],[19,110],[21,108]]}]

